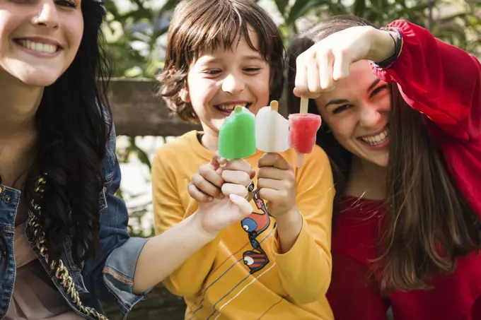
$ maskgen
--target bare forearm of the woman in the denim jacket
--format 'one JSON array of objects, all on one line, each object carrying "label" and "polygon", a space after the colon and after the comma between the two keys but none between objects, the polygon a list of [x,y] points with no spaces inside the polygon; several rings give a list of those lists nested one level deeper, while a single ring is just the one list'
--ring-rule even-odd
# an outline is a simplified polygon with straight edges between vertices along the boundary
[{"label": "bare forearm of the woman in the denim jacket", "polygon": [[134,292],[144,292],[160,283],[212,239],[212,235],[199,229],[194,215],[151,238],[137,261]]}]

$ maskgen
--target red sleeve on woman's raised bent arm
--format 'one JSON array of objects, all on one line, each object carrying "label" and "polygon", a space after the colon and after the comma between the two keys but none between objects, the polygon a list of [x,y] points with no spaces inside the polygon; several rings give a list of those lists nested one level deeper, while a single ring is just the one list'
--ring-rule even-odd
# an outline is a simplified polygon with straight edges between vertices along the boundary
[{"label": "red sleeve on woman's raised bent arm", "polygon": [[388,27],[400,31],[402,49],[388,69],[373,64],[376,76],[398,83],[407,104],[451,136],[476,140],[481,128],[480,62],[405,20]]}]

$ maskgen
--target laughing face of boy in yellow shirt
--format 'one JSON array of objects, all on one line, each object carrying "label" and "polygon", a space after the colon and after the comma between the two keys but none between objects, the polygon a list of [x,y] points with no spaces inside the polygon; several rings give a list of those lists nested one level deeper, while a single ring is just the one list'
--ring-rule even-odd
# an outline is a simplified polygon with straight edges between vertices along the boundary
[{"label": "laughing face of boy in yellow shirt", "polygon": [[[250,32],[250,40],[257,45],[255,32]],[[190,65],[187,88],[180,96],[192,103],[204,133],[218,136],[224,119],[236,105],[257,114],[269,105],[269,91],[269,64],[241,37],[231,49],[220,47],[201,52]]]}]

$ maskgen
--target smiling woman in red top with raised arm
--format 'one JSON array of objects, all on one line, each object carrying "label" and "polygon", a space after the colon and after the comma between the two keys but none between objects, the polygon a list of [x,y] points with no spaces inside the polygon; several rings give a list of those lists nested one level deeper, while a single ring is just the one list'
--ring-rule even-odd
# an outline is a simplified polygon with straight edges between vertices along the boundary
[{"label": "smiling woman in red top with raised arm", "polygon": [[479,61],[404,20],[342,16],[289,66],[289,112],[313,99],[335,174],[335,319],[481,319]]}]

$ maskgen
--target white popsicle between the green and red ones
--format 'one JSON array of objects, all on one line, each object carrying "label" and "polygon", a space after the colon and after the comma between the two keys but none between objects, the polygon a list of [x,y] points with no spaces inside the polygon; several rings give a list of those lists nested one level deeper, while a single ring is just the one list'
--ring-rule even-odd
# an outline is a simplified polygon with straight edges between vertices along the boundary
[{"label": "white popsicle between the green and red ones", "polygon": [[272,101],[255,116],[255,144],[258,150],[280,153],[289,149],[289,120],[277,109],[279,102]]}]

